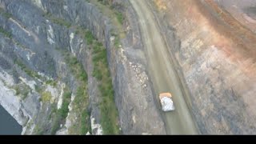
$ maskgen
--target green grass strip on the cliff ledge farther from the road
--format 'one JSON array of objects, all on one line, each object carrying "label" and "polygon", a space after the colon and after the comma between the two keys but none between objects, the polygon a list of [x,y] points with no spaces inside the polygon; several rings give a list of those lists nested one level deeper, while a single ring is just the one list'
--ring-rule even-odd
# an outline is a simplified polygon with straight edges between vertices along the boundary
[{"label": "green grass strip on the cliff ledge farther from the road", "polygon": [[[93,40],[92,34],[87,33],[86,37]],[[90,41],[89,40],[89,41]],[[92,42],[93,43],[93,42]],[[90,130],[90,111],[88,110],[89,97],[87,94],[87,74],[82,63],[68,51],[62,51],[67,66],[77,79],[79,85],[73,102],[73,112],[76,114],[76,123],[70,127],[70,132],[74,134],[86,134]]]}]

